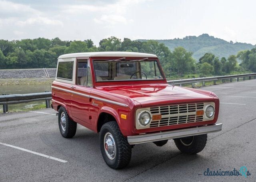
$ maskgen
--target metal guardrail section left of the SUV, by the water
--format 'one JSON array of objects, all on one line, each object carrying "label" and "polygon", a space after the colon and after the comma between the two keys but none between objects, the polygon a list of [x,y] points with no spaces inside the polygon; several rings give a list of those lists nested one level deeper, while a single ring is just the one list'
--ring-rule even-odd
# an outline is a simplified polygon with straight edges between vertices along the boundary
[{"label": "metal guardrail section left of the SUV, by the water", "polygon": [[52,92],[41,92],[32,94],[3,94],[0,96],[0,105],[3,105],[3,112],[8,112],[8,104],[20,104],[37,100],[45,100],[46,108],[50,108]]}]

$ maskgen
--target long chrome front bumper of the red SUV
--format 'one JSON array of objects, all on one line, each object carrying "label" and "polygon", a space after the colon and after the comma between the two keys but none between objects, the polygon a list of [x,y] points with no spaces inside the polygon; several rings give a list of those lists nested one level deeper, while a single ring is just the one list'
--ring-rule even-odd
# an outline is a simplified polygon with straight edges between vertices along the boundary
[{"label": "long chrome front bumper of the red SUV", "polygon": [[152,134],[136,135],[136,136],[127,136],[128,143],[131,145],[134,144],[143,144],[148,142],[156,142],[161,140],[169,140],[174,138],[182,138],[186,136],[201,135],[213,132],[219,132],[222,129],[222,124],[212,124],[208,126],[197,126],[187,129],[172,130],[168,132],[159,132]]}]

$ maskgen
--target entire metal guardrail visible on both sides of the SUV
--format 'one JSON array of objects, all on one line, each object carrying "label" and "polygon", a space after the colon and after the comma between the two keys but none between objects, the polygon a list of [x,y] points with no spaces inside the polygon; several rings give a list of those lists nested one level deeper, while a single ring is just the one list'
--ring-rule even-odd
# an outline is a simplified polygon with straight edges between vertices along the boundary
[{"label": "entire metal guardrail visible on both sides of the SUV", "polygon": [[[232,82],[233,79],[237,79],[239,81],[239,78],[243,78],[243,80],[246,80],[246,77],[248,77],[249,80],[252,78],[256,79],[256,73],[250,73],[250,74],[237,74],[237,75],[228,75],[228,76],[213,76],[213,77],[206,77],[206,78],[192,78],[192,79],[184,79],[184,80],[172,80],[167,81],[169,84],[177,85],[179,84],[182,86],[182,84],[192,84],[192,88],[195,87],[195,83],[202,82],[202,86],[205,86],[205,82],[213,81],[214,84],[216,84],[217,80],[222,80],[222,82],[225,82],[225,80],[229,79],[230,82]],[[8,112],[8,104],[19,104],[24,102],[32,102],[36,100],[45,100],[46,102],[46,108],[50,108],[50,100],[52,99],[52,92],[41,92],[41,93],[33,93],[33,94],[12,94],[12,95],[6,95],[3,94],[0,96],[0,105],[3,105],[3,112]]]}]

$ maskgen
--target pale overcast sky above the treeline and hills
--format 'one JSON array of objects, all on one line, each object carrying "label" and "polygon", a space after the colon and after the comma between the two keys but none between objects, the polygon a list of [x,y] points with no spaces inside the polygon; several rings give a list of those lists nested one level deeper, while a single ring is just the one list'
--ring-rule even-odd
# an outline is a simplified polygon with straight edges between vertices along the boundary
[{"label": "pale overcast sky above the treeline and hills", "polygon": [[0,0],[0,39],[173,39],[256,44],[255,0]]}]

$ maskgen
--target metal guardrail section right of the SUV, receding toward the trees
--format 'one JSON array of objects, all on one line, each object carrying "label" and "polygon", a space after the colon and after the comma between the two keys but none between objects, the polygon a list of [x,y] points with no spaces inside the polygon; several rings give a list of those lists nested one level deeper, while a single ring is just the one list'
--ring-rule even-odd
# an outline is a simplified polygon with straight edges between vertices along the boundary
[{"label": "metal guardrail section right of the SUV, receding toward the trees", "polygon": [[192,84],[192,88],[195,88],[195,83],[202,82],[202,86],[205,86],[205,82],[213,81],[213,84],[216,84],[217,80],[222,80],[224,83],[225,80],[229,79],[230,82],[233,81],[233,79],[236,78],[237,82],[239,82],[239,78],[243,78],[243,80],[246,80],[246,77],[248,77],[249,80],[252,78],[256,79],[256,73],[249,73],[249,74],[236,74],[236,75],[228,75],[228,76],[213,76],[213,77],[205,77],[205,78],[192,78],[192,79],[184,79],[184,80],[172,80],[167,81],[168,84],[174,84],[174,85],[180,85],[182,84]]}]

